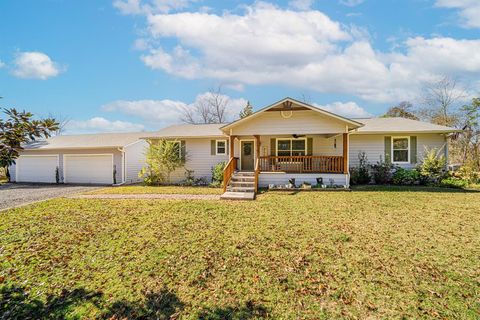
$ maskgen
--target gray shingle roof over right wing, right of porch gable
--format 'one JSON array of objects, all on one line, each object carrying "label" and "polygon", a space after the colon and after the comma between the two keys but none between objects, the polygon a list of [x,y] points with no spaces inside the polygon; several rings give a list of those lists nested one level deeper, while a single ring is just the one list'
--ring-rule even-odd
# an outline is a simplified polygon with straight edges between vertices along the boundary
[{"label": "gray shingle roof over right wing, right of porch gable", "polygon": [[461,131],[455,128],[405,118],[370,118],[356,120],[365,124],[365,126],[358,129],[359,133],[450,133]]}]

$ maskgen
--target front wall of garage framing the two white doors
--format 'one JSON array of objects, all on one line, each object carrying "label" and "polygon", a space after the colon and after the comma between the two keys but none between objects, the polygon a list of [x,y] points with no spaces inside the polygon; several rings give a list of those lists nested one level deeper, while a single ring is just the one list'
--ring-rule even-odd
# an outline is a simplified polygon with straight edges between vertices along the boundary
[{"label": "front wall of garage framing the two white doors", "polygon": [[[64,155],[71,155],[71,154],[113,154],[113,163],[116,165],[117,168],[117,183],[123,181],[123,170],[122,170],[122,153],[114,148],[103,148],[103,149],[65,149],[65,150],[25,150],[20,153],[20,155],[58,155],[59,156],[59,170],[60,170],[60,177],[61,181],[64,178],[64,168],[63,168],[63,158]],[[16,177],[16,165],[10,167],[10,175],[12,181],[17,181]],[[36,182],[36,181],[28,181],[28,182]]]}]

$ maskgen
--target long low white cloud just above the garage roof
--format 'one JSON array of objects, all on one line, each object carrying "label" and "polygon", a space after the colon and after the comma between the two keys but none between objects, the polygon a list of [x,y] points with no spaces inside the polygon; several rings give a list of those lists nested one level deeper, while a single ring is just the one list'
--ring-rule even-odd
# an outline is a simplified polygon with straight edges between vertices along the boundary
[{"label": "long low white cloud just above the garage roof", "polygon": [[89,120],[71,120],[65,128],[68,134],[96,133],[96,132],[137,132],[145,127],[139,123],[119,120],[108,120],[102,117],[94,117]]}]

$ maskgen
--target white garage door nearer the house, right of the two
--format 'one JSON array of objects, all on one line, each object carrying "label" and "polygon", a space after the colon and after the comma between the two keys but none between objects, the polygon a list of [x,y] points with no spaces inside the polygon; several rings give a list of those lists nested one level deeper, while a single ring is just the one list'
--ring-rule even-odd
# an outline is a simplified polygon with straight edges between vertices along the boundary
[{"label": "white garage door nearer the house, right of the two", "polygon": [[63,156],[65,183],[113,183],[113,155]]}]

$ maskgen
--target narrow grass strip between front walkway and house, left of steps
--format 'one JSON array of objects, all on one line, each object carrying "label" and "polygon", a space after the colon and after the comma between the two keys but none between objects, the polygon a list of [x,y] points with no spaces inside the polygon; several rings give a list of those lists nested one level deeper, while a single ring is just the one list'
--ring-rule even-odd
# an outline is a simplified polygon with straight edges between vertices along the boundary
[{"label": "narrow grass strip between front walkway and house, left of steps", "polygon": [[86,194],[222,194],[222,188],[183,186],[120,186],[87,192]]}]

